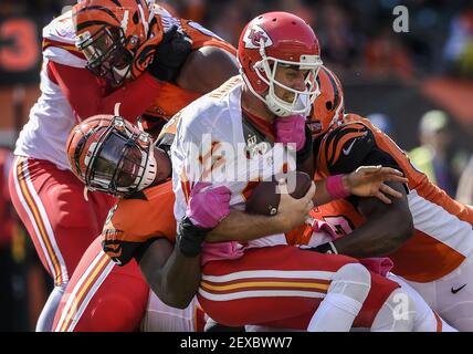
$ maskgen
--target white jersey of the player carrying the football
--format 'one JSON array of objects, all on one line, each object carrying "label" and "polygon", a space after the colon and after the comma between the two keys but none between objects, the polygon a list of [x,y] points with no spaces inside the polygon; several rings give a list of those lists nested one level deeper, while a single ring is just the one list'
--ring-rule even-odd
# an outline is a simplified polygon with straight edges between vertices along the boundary
[{"label": "white jersey of the player carrying the football", "polygon": [[[232,192],[230,205],[243,210],[245,196],[257,180],[283,169],[295,170],[295,154],[282,144],[273,145],[261,138],[259,142],[244,128],[241,93],[241,80],[232,77],[175,116],[179,118],[171,147],[177,220],[185,216],[190,190],[197,181],[227,186]],[[251,241],[249,246],[285,243],[281,233]]]}]

